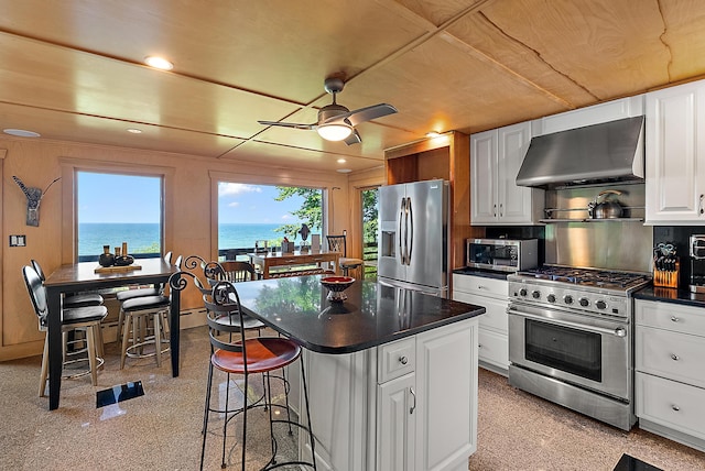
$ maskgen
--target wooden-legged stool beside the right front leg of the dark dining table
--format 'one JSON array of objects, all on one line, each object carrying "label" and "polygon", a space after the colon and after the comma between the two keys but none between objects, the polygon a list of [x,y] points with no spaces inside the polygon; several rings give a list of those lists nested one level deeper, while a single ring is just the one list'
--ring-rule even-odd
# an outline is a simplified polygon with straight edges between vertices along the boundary
[{"label": "wooden-legged stool beside the right front leg of the dark dining table", "polygon": [[[120,306],[123,317],[120,370],[126,358],[156,357],[156,366],[162,365],[162,354],[169,347],[169,313],[171,299],[166,296],[142,296],[128,299]],[[150,320],[151,326],[150,326]],[[149,330],[152,333],[149,335]],[[153,352],[144,352],[144,347],[154,346]],[[162,344],[167,347],[162,348]]]}]

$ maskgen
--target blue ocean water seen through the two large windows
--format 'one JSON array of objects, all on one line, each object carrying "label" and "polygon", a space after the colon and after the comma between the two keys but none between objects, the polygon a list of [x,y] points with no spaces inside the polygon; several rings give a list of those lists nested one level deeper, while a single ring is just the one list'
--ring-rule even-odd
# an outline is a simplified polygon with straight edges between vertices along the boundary
[{"label": "blue ocean water seen through the two large windows", "polygon": [[[254,241],[281,241],[284,234],[274,229],[275,223],[226,223],[218,227],[218,249],[253,248]],[[101,223],[86,222],[78,224],[78,255],[99,255],[102,245],[110,245],[112,253],[122,242],[128,243],[130,253],[159,252],[159,223]]]}]

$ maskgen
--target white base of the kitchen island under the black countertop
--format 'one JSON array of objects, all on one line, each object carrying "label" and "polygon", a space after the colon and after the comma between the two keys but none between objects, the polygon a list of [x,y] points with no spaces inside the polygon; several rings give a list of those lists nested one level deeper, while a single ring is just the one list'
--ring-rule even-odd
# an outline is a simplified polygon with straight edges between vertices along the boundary
[{"label": "white base of the kitchen island under the black countertop", "polygon": [[350,354],[304,351],[318,469],[467,470],[477,336],[471,318]]}]

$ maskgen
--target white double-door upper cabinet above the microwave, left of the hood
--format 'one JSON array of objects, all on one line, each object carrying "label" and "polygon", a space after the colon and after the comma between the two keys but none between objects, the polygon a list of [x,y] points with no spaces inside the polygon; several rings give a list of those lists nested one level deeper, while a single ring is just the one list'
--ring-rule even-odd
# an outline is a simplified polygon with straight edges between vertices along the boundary
[{"label": "white double-door upper cabinet above the microwave, left of the hood", "polygon": [[543,190],[517,186],[531,122],[470,135],[470,223],[532,224],[543,217]]}]

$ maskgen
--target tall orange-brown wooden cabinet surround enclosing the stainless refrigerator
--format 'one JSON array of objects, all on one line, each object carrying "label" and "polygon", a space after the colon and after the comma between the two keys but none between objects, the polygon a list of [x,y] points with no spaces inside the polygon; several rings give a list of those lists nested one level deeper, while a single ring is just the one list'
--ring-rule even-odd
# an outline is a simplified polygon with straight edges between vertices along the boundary
[{"label": "tall orange-brown wooden cabinet surround enclosing the stainless refrigerator", "polygon": [[451,183],[451,266],[465,266],[465,239],[482,237],[470,227],[470,150],[467,134],[451,131],[384,151],[387,184],[443,178]]}]

